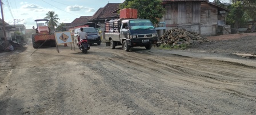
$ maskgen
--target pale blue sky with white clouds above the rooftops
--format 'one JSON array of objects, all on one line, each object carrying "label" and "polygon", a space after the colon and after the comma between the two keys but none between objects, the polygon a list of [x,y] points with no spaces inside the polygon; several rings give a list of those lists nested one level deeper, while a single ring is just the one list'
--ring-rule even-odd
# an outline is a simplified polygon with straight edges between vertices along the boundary
[{"label": "pale blue sky with white clouds above the rooftops", "polygon": [[[55,11],[59,23],[71,23],[80,16],[92,16],[100,7],[125,0],[2,0],[5,22],[36,26],[35,19],[43,19],[48,11]],[[213,0],[210,0],[212,2]],[[18,22],[18,23],[17,23]]]}]

